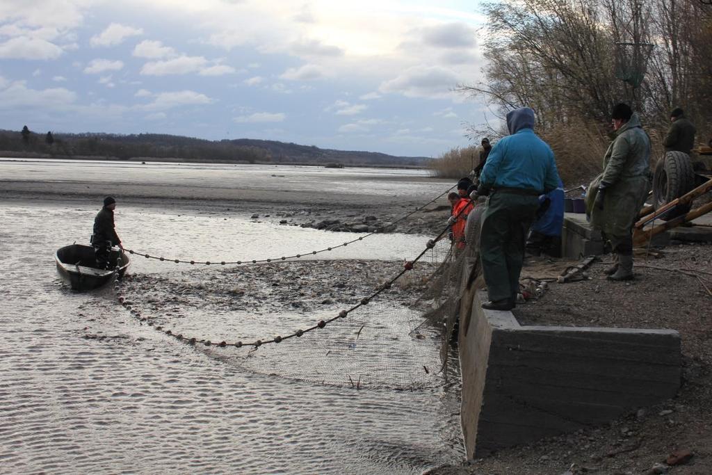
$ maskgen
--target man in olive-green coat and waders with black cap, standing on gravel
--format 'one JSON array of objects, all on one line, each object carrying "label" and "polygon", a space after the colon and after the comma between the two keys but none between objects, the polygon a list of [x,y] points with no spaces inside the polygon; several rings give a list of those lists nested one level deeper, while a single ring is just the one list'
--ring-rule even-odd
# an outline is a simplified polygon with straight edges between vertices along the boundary
[{"label": "man in olive-green coat and waders with black cap, standing on gravel", "polygon": [[633,278],[633,225],[651,186],[650,139],[629,105],[615,105],[611,117],[616,137],[603,157],[603,173],[591,184],[587,212],[613,248],[608,278],[627,281]]}]

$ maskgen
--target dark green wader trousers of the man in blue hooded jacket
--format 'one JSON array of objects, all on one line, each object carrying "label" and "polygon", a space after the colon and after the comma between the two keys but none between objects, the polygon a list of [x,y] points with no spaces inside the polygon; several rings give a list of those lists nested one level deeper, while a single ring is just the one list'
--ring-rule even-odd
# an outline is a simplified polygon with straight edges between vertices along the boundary
[{"label": "dark green wader trousers of the man in blue hooded jacket", "polygon": [[537,209],[539,199],[535,194],[500,190],[489,197],[483,215],[480,257],[489,299],[493,302],[516,301],[524,244]]}]

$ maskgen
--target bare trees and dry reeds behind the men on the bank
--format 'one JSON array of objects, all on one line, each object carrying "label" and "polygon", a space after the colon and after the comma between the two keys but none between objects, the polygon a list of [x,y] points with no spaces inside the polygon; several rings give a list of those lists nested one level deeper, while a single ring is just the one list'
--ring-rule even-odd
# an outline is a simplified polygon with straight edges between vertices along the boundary
[{"label": "bare trees and dry reeds behind the men on the bank", "polygon": [[[610,110],[627,102],[657,155],[672,108],[706,143],[712,122],[712,6],[701,0],[518,0],[483,6],[488,22],[480,84],[459,90],[492,112],[528,105],[569,181],[595,174]],[[480,127],[471,135],[501,134]],[[656,160],[656,159],[655,159]],[[653,161],[655,161],[653,160]]]}]

